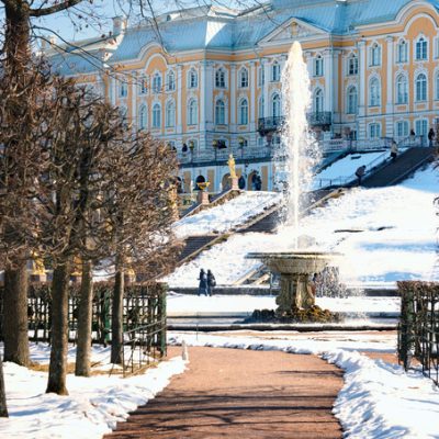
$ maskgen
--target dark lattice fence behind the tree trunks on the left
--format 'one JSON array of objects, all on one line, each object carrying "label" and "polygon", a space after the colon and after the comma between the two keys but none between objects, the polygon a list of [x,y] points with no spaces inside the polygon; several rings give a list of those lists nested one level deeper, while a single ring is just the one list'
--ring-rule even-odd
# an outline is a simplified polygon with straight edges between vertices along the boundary
[{"label": "dark lattice fence behind the tree trunks on the left", "polygon": [[[113,284],[98,282],[93,285],[92,341],[106,345],[111,337],[111,296]],[[29,335],[32,341],[50,340],[50,284],[35,283],[29,289],[27,316]],[[0,339],[2,339],[3,294],[0,286]],[[68,326],[69,340],[75,342],[78,328],[80,285],[69,290]],[[138,331],[148,338],[147,348],[165,353],[166,346],[166,285],[161,283],[132,284],[125,288],[123,304],[123,327],[125,333]],[[136,336],[137,337],[137,336]]]}]

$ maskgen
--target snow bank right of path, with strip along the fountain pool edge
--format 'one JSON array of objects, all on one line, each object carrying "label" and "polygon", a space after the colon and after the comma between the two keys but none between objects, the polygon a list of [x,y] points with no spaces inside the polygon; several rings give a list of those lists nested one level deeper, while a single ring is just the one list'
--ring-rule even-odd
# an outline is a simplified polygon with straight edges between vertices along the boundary
[{"label": "snow bank right of path, with strip along the fountain pool edge", "polygon": [[[258,333],[255,333],[258,334]],[[269,339],[267,339],[267,337]],[[380,340],[381,338],[381,340]],[[345,370],[334,414],[349,439],[439,438],[439,391],[420,371],[373,360],[360,350],[394,352],[395,338],[370,335],[217,336],[175,334],[173,344],[314,353]]]}]

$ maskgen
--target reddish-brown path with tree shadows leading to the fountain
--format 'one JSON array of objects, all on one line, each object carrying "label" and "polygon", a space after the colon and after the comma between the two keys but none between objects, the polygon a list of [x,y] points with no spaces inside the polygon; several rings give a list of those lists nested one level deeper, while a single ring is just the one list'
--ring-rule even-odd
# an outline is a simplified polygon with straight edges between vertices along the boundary
[{"label": "reddish-brown path with tree shadows leading to the fountain", "polygon": [[[180,353],[180,350],[171,350]],[[342,371],[315,356],[189,348],[189,369],[105,439],[333,439]]]}]

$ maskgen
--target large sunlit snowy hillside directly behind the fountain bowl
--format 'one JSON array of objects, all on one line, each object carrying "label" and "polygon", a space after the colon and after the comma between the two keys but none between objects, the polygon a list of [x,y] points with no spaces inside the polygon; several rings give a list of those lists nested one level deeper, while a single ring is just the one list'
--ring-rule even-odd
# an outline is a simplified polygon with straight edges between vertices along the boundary
[{"label": "large sunlit snowy hillside directly behind the fountain bowl", "polygon": [[[350,190],[301,221],[299,235],[312,236],[318,250],[337,260],[345,282],[393,286],[397,280],[435,280],[437,263],[437,170],[432,166],[391,188]],[[217,218],[217,222],[221,219]],[[219,224],[212,224],[218,228]],[[168,278],[170,286],[196,286],[200,268],[213,270],[217,284],[233,284],[261,266],[251,251],[285,250],[294,234],[245,234],[203,251]]]}]

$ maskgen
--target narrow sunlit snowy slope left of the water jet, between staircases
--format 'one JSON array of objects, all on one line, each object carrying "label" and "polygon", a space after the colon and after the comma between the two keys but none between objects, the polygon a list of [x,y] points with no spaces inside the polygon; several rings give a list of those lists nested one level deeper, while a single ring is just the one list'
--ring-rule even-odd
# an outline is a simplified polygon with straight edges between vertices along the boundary
[{"label": "narrow sunlit snowy slope left of the water jet, between staircases", "polygon": [[204,210],[175,224],[177,237],[227,232],[278,204],[281,194],[275,192],[244,192],[225,204]]}]

